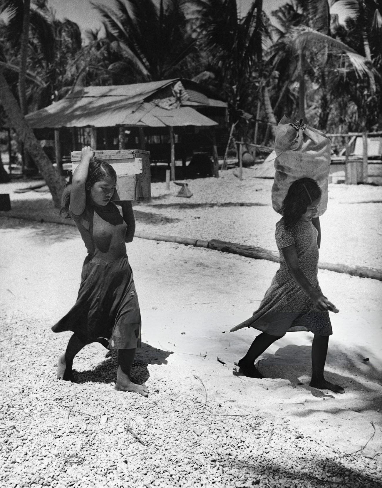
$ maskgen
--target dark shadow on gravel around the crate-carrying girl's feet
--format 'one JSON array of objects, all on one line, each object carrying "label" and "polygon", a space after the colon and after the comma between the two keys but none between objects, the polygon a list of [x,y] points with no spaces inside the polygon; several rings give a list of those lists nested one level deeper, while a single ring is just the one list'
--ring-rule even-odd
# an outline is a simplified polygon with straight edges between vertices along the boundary
[{"label": "dark shadow on gravel around the crate-carrying girl's feet", "polygon": [[[130,379],[138,385],[145,383],[150,373],[148,365],[166,365],[167,358],[172,351],[162,351],[156,347],[152,347],[149,344],[142,343],[141,349],[137,349],[134,363],[131,368]],[[74,378],[77,383],[107,383],[115,382],[117,377],[118,360],[117,351],[107,351],[105,361],[96,366],[94,369],[88,369],[86,371],[74,370]]]}]

